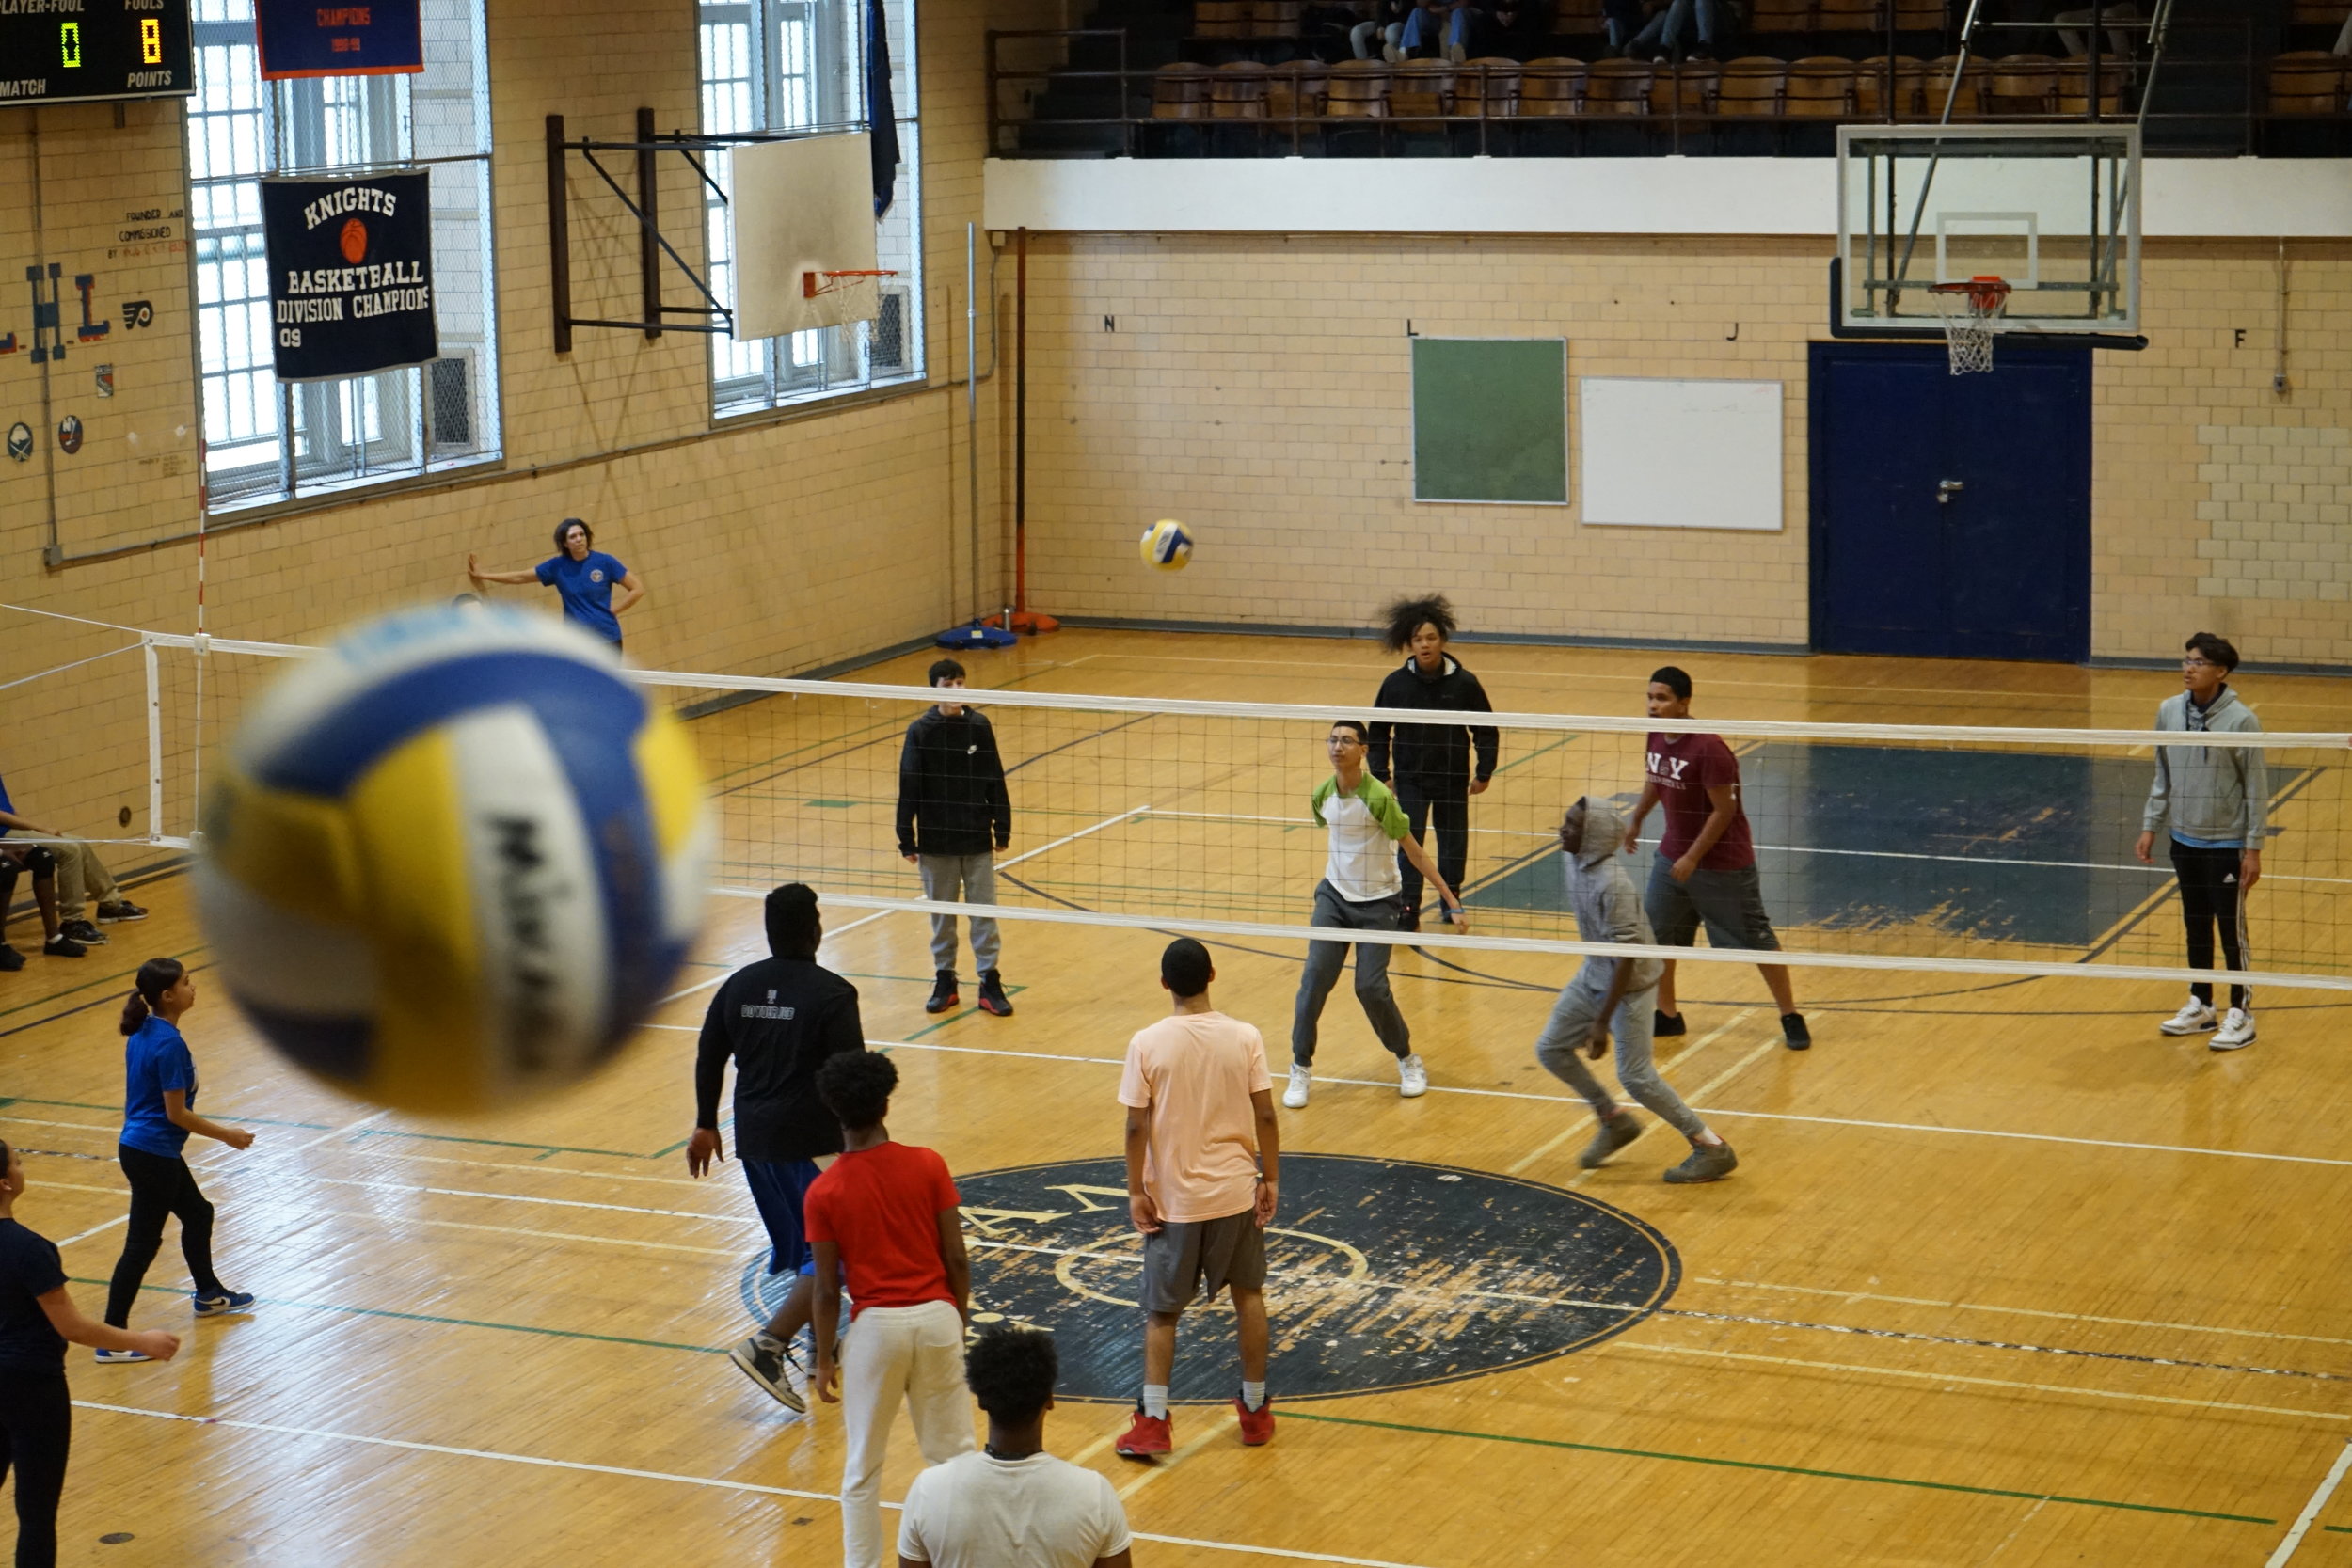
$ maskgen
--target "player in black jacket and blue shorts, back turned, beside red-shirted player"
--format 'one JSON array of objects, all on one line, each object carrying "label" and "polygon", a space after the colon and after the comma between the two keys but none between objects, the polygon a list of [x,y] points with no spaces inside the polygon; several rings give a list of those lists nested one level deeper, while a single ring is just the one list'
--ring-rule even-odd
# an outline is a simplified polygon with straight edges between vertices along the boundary
[{"label": "player in black jacket and blue shorts, back turned, beside red-shirted player", "polygon": [[[767,896],[767,950],[774,954],[727,976],[694,1053],[694,1138],[687,1173],[701,1175],[724,1159],[720,1086],[727,1058],[736,1065],[736,1164],[767,1225],[767,1272],[797,1274],[767,1328],[731,1352],[736,1366],[788,1410],[807,1401],[788,1382],[793,1335],[809,1324],[816,1279],[802,1232],[800,1204],[818,1175],[818,1159],[842,1152],[842,1124],[816,1098],[816,1070],[842,1051],[866,1048],[858,987],[816,964],[823,922],[816,893],[788,882]],[[807,1380],[807,1373],[802,1373]]]}]

